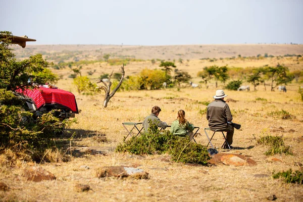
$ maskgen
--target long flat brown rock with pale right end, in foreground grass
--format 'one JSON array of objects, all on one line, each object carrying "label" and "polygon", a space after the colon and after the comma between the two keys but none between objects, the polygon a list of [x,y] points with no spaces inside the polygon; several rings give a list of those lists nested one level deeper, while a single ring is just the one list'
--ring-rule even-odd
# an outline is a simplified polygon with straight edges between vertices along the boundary
[{"label": "long flat brown rock with pale right end, in foreground grass", "polygon": [[148,173],[139,168],[124,166],[106,166],[97,169],[96,176],[102,177],[132,177],[135,179],[148,179]]}]

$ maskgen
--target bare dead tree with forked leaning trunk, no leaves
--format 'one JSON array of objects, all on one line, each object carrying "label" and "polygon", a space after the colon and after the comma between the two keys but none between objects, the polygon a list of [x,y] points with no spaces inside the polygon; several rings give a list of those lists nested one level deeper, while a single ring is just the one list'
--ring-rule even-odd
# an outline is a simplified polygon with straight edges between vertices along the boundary
[{"label": "bare dead tree with forked leaning trunk, no leaves", "polygon": [[113,89],[113,92],[111,93],[111,86],[112,86],[112,82],[111,82],[111,77],[113,75],[113,72],[111,73],[111,75],[109,76],[109,80],[108,82],[103,81],[102,79],[100,79],[97,83],[103,83],[103,85],[99,86],[100,89],[103,89],[105,91],[105,97],[104,97],[104,102],[103,102],[103,107],[106,108],[108,102],[110,101],[110,99],[114,96],[114,94],[116,93],[116,91],[119,89],[119,87],[122,84],[122,81],[124,79],[124,64],[123,66],[121,66],[121,70],[122,70],[122,76],[121,79],[118,83],[118,85],[115,87],[115,89]]}]

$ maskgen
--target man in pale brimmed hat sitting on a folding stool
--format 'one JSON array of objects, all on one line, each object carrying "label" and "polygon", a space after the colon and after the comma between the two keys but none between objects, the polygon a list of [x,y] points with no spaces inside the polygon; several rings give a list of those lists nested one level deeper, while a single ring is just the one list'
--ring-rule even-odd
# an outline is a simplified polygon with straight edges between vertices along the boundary
[{"label": "man in pale brimmed hat sitting on a folding stool", "polygon": [[[216,95],[213,96],[215,100],[207,106],[206,118],[209,121],[211,130],[222,130],[227,132],[226,141],[231,145],[234,127],[240,129],[241,125],[231,122],[232,115],[228,105],[224,101],[224,97],[226,96],[227,95],[223,90],[216,91]],[[230,147],[232,148],[232,146]],[[225,144],[224,148],[228,148],[228,145]]]}]

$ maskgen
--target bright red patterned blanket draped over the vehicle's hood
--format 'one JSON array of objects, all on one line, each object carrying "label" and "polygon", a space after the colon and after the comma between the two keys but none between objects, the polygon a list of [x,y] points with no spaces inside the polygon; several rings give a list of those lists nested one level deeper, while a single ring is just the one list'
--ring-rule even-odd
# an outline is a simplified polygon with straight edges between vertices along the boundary
[{"label": "bright red patterned blanket draped over the vehicle's hood", "polygon": [[69,91],[39,87],[34,89],[25,89],[20,92],[31,97],[38,109],[46,104],[57,104],[64,106],[74,113],[78,113],[75,95]]}]

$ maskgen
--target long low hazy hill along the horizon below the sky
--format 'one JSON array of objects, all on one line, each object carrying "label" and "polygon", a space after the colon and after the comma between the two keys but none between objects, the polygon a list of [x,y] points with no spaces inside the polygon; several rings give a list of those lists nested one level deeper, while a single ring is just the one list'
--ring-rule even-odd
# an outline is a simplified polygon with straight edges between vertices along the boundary
[{"label": "long low hazy hill along the horizon below the sky", "polygon": [[77,60],[102,60],[110,58],[136,58],[143,60],[197,60],[201,58],[230,58],[257,56],[302,55],[303,45],[291,44],[226,44],[226,45],[30,45],[14,46],[18,59],[40,53],[55,63]]}]

